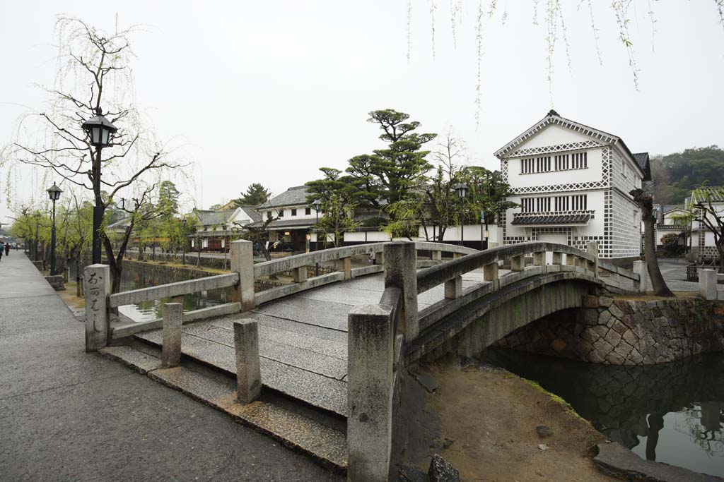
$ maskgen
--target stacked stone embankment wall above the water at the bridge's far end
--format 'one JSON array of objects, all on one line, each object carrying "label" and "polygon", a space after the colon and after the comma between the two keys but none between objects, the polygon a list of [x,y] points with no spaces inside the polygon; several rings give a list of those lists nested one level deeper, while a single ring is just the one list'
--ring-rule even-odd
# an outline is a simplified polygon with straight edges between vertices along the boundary
[{"label": "stacked stone embankment wall above the water at the bridge's far end", "polygon": [[605,365],[652,365],[724,352],[724,303],[584,296],[584,308],[552,314],[497,345]]}]

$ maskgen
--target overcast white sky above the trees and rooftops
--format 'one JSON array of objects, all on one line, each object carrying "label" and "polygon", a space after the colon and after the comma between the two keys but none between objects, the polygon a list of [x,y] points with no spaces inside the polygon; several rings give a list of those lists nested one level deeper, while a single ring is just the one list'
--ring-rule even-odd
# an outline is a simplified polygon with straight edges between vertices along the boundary
[{"label": "overcast white sky above the trees and rooftops", "polygon": [[[499,0],[486,15],[476,127],[477,2],[463,1],[457,48],[450,2],[434,2],[433,58],[430,2],[413,1],[408,62],[405,1],[1,1],[0,144],[12,140],[23,106],[43,108],[33,83],[54,77],[56,16],[113,30],[118,14],[121,26],[150,26],[135,37],[137,100],[159,137],[195,161],[199,207],[252,182],[276,194],[318,177],[320,166],[345,168],[382,145],[366,123],[378,108],[410,113],[423,132],[453,126],[477,163],[497,168],[492,152],[551,108],[546,2],[538,3],[539,25],[533,1]],[[633,152],[724,145],[724,27],[713,0],[634,0],[639,91],[610,2],[593,1],[602,66],[579,3],[562,0],[571,70],[560,39],[552,92],[560,115],[623,137]],[[31,177],[18,196],[44,197]],[[0,223],[10,214],[3,196]]]}]

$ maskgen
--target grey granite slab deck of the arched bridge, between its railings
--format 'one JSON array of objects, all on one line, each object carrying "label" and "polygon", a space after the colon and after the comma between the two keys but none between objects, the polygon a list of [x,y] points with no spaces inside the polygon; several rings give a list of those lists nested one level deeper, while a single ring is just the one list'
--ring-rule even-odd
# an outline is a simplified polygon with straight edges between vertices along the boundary
[{"label": "grey granite slab deck of the arched bridge, between its railings", "polygon": [[[463,288],[482,280],[481,270],[470,272],[463,276]],[[346,416],[348,313],[356,305],[379,303],[383,291],[383,275],[369,275],[270,301],[252,311],[184,324],[182,353],[235,375],[233,322],[255,319],[264,386]],[[419,308],[442,301],[444,294],[442,285],[421,293]],[[161,330],[135,336],[161,345]]]}]

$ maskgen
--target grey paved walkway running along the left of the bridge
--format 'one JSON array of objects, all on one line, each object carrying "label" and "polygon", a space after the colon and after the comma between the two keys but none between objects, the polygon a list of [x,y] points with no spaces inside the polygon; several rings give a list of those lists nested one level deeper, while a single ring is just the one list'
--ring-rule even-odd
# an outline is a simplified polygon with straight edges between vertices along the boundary
[{"label": "grey paved walkway running along the left of the bridge", "polygon": [[0,481],[342,481],[120,363],[28,258],[0,262]]}]

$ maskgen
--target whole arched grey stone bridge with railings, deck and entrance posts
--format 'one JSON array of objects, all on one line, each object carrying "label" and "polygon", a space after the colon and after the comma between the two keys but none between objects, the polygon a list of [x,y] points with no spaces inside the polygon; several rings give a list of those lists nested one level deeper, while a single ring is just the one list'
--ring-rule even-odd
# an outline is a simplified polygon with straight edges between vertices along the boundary
[{"label": "whole arched grey stone bridge with railings, deck and entrance posts", "polygon": [[[353,267],[353,257],[361,256],[374,264]],[[340,271],[308,277],[308,267],[329,261]],[[228,275],[115,294],[107,266],[86,268],[86,349],[177,388],[181,355],[232,376],[236,384],[222,381],[218,390],[236,396],[212,397],[212,405],[348,470],[350,481],[387,480],[409,363],[450,351],[478,353],[536,319],[582,306],[599,288],[646,285],[645,264],[623,270],[598,259],[595,244],[588,251],[540,242],[476,251],[397,241],[253,264],[251,243],[235,241],[231,268]],[[282,272],[293,283],[255,293],[255,280]],[[186,312],[166,304],[162,319],[111,325],[118,306],[217,288],[231,288],[230,303]],[[161,353],[148,348],[154,346]],[[188,385],[180,390],[209,401]],[[291,410],[289,401],[337,422]],[[285,428],[290,423],[326,443],[309,442]]]}]

